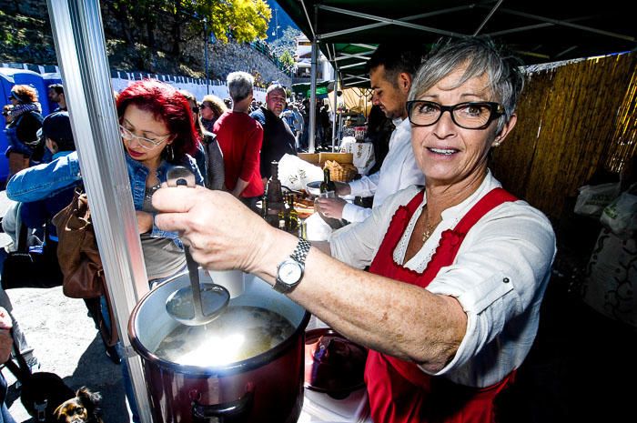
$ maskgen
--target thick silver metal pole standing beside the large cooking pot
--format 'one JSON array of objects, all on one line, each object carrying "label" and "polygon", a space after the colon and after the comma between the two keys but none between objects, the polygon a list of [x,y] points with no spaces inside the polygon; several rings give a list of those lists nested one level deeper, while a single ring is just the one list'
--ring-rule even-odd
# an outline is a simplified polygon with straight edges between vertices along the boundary
[{"label": "thick silver metal pole standing beside the large cooking pot", "polygon": [[127,337],[128,317],[148,291],[98,0],[47,0],[82,179],[119,340],[126,353],[139,417],[151,423],[140,358]]}]

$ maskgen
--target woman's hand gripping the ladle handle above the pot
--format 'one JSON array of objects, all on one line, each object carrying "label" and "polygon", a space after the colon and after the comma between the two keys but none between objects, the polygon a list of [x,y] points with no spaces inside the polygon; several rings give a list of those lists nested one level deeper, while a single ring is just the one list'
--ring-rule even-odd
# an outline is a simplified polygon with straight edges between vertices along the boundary
[{"label": "woman's hand gripping the ladle handle above the pot", "polygon": [[157,227],[176,231],[193,258],[212,269],[258,268],[276,231],[227,192],[201,186],[162,187],[153,195]]}]

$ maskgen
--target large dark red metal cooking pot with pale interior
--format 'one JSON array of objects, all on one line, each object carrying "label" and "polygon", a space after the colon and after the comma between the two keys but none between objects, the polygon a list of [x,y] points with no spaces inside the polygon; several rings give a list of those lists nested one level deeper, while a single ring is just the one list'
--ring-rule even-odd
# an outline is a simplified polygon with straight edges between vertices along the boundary
[{"label": "large dark red metal cooking pot with pale interior", "polygon": [[[202,282],[210,280],[203,270],[199,277]],[[188,284],[184,274],[153,289],[139,301],[128,322],[131,344],[142,358],[153,421],[296,422],[303,405],[308,312],[258,277],[247,275],[244,294],[232,298],[230,306],[276,312],[293,325],[292,335],[276,347],[241,361],[219,366],[177,364],[158,357],[155,351],[179,325],[168,316],[166,299]]]}]

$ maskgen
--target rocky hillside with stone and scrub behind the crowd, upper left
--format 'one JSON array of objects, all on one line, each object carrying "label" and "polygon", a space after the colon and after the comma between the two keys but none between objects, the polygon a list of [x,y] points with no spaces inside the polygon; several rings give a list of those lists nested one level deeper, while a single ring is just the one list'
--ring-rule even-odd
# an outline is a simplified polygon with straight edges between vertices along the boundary
[{"label": "rocky hillside with stone and scrub behind the crowd, upper left", "polygon": [[[111,68],[133,72],[205,77],[205,41],[200,35],[184,34],[180,55],[175,57],[163,46],[173,44],[171,35],[157,28],[160,46],[149,47],[135,40],[135,31],[123,28],[102,2],[106,51]],[[126,34],[125,34],[126,33]],[[132,36],[131,36],[132,34]],[[125,36],[126,35],[126,36]],[[228,72],[243,70],[258,76],[260,82],[289,77],[267,55],[247,44],[208,45],[208,73],[211,79],[225,79]],[[45,0],[0,0],[0,62],[56,65],[56,49]]]}]

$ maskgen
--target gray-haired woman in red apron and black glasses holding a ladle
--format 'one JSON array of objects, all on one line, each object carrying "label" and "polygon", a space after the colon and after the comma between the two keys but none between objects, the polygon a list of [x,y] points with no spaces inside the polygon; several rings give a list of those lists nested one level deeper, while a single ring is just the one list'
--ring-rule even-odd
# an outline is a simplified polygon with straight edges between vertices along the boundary
[{"label": "gray-haired woman in red apron and black glasses holding a ladle", "polygon": [[515,126],[521,81],[483,39],[430,55],[408,103],[424,188],[389,196],[329,244],[309,247],[204,189],[159,190],[157,225],[183,233],[202,266],[258,275],[369,347],[374,421],[492,422],[537,333],[556,251],[549,220],[488,168]]}]

